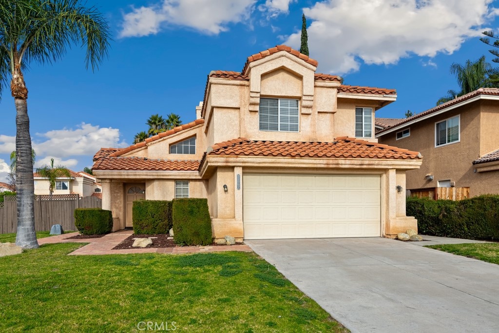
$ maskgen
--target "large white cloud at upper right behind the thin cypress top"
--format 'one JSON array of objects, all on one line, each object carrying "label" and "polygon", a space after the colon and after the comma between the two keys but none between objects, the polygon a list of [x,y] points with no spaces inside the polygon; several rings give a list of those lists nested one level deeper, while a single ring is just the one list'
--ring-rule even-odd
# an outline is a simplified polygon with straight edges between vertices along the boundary
[{"label": "large white cloud at upper right behind the thin cypress top", "polygon": [[[321,71],[344,74],[367,64],[392,64],[411,54],[453,53],[498,15],[492,0],[328,0],[303,12],[310,56]],[[300,31],[286,43],[300,45]]]}]

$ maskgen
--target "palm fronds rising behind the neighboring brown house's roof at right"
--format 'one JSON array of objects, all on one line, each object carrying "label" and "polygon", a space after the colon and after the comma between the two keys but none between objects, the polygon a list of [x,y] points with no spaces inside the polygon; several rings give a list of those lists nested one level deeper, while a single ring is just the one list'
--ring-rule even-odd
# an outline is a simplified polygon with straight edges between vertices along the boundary
[{"label": "palm fronds rising behind the neighboring brown house's roof at right", "polygon": [[480,87],[497,87],[499,70],[485,61],[485,55],[477,61],[467,60],[464,65],[453,63],[451,73],[456,75],[461,91],[449,90],[448,95],[440,98],[437,105],[465,95]]}]

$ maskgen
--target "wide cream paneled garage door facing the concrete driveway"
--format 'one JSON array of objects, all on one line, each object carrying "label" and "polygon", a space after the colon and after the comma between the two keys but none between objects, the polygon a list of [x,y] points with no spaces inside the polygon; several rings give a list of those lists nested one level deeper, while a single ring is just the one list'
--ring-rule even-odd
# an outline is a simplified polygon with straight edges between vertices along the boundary
[{"label": "wide cream paneled garage door facing the concrete driveway", "polygon": [[378,237],[379,175],[244,174],[245,239]]}]

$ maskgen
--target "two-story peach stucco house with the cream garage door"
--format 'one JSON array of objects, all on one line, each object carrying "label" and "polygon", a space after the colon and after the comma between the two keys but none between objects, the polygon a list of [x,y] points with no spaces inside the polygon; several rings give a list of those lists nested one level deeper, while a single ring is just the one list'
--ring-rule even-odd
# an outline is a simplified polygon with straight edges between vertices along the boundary
[{"label": "two-story peach stucco house with the cream garage door", "polygon": [[[393,89],[342,85],[285,45],[212,71],[197,119],[127,148],[102,148],[93,173],[114,230],[139,199],[207,198],[215,238],[394,237],[417,152],[380,145],[374,112]],[[399,188],[397,188],[400,186]]]}]

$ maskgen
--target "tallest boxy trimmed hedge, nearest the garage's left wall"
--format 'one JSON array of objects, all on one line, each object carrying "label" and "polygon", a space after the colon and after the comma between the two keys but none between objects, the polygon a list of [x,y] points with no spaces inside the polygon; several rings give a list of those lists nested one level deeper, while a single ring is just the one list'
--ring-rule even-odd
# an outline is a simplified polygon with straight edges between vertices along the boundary
[{"label": "tallest boxy trimmed hedge, nearest the garage's left wall", "polygon": [[172,216],[175,243],[179,245],[213,243],[212,220],[207,199],[174,199]]}]

